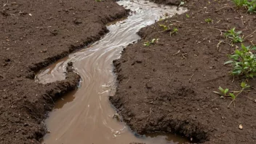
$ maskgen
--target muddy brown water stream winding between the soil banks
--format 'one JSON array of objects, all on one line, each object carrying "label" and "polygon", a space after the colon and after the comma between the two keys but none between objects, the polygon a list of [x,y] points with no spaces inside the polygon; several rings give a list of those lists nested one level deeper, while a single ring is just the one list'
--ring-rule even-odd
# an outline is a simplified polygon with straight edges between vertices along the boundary
[{"label": "muddy brown water stream winding between the soil banks", "polygon": [[57,61],[36,76],[36,81],[46,84],[65,79],[65,66],[73,67],[82,78],[79,89],[70,92],[55,103],[55,109],[45,121],[50,133],[45,135],[47,144],[128,144],[137,143],[185,143],[183,137],[154,134],[137,137],[126,124],[113,119],[116,113],[108,97],[114,95],[116,78],[112,61],[121,56],[128,44],[140,39],[140,28],[155,23],[161,15],[183,13],[176,7],[164,7],[149,1],[118,1],[131,9],[132,15],[108,25],[109,33],[87,49],[75,52]]}]

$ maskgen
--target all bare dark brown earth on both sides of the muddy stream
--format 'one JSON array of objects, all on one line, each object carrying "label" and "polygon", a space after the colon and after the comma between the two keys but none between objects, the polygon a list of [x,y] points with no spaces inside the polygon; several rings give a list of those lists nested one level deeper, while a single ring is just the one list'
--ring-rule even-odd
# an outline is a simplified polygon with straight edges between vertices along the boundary
[{"label": "all bare dark brown earth on both sides of the muddy stream", "polygon": [[[43,85],[34,82],[35,72],[99,40],[105,24],[127,11],[114,1],[94,0],[9,0],[0,6],[0,143],[39,143],[53,101],[76,89],[80,76],[70,65],[64,81]],[[119,86],[111,103],[139,134],[175,132],[196,143],[256,143],[255,80],[248,81],[251,89],[239,95],[235,107],[227,108],[231,100],[212,93],[219,86],[239,89],[243,79],[233,80],[231,67],[223,65],[236,48],[223,32],[236,27],[245,44],[255,43],[255,14],[228,0],[190,0],[185,7],[189,17],[176,15],[143,28],[143,39],[113,62]],[[159,24],[172,24],[178,33],[169,36]],[[154,38],[159,43],[143,46]]]}]

